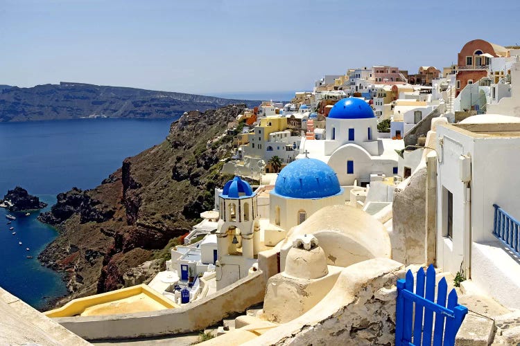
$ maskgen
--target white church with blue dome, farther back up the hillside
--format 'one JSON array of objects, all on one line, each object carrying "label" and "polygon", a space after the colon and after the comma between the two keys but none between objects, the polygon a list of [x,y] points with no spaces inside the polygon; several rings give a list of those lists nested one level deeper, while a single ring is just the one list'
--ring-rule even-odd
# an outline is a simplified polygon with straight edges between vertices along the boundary
[{"label": "white church with blue dome, farther back up the hillside", "polygon": [[325,140],[302,140],[297,158],[327,163],[341,186],[370,183],[371,174],[397,174],[403,140],[377,138],[377,119],[367,102],[344,98],[334,104],[325,120]]}]

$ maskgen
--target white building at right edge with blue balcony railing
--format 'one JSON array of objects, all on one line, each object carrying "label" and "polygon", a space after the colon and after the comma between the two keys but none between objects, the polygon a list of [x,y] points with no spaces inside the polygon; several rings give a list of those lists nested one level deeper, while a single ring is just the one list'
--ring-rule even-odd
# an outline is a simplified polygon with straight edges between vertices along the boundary
[{"label": "white building at right edge with blue balcony railing", "polygon": [[[519,118],[482,114],[437,125],[437,266],[453,275],[462,271],[487,295],[516,309],[519,248],[515,253],[494,235],[497,220],[505,220],[497,219],[494,205],[520,220],[519,152]],[[502,238],[520,245],[513,221],[506,232]]]}]

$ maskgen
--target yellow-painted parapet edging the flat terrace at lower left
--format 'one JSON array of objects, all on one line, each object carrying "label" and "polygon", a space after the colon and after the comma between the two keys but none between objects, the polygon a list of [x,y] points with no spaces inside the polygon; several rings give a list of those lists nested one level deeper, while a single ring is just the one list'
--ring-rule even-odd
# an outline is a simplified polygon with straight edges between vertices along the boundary
[{"label": "yellow-painted parapet edging the flat terrace at lower left", "polygon": [[[173,309],[175,307],[179,307],[177,304],[169,300],[168,298],[164,298],[159,293],[155,292],[153,289],[150,289],[146,284],[140,284],[137,286],[127,287],[125,289],[118,289],[116,291],[101,293],[96,295],[89,295],[88,297],[78,298],[71,300],[63,307],[59,309],[54,309],[50,311],[46,311],[44,314],[47,317],[70,317],[76,316],[85,311],[85,309],[89,307],[94,307],[98,304],[105,304],[107,302],[113,302],[116,300],[122,300],[125,298],[130,298],[132,296],[138,295],[140,293],[144,293],[148,296],[148,298],[155,300],[162,306],[164,309]],[[140,312],[140,311],[134,311]],[[114,314],[117,312],[115,311]]]}]

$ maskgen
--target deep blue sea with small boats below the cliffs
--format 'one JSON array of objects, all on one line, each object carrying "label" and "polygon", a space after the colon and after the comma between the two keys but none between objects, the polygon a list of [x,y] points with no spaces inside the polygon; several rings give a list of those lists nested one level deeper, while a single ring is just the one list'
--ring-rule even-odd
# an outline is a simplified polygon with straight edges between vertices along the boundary
[{"label": "deep blue sea with small boats below the cliffs", "polygon": [[[1,123],[0,198],[21,186],[49,204],[42,211],[49,210],[58,193],[73,187],[95,188],[121,167],[126,157],[161,143],[174,120],[94,118]],[[0,286],[32,307],[43,309],[49,300],[67,293],[62,275],[37,260],[58,233],[37,220],[39,212],[29,216],[10,212],[17,218],[11,224],[7,224],[7,213],[0,208]]]}]

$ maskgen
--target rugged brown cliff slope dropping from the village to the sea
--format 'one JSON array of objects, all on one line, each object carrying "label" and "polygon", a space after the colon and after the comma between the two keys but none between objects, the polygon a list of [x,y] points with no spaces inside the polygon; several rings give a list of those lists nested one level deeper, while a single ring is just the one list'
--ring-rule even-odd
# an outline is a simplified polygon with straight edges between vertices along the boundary
[{"label": "rugged brown cliff slope dropping from the village to the sea", "polygon": [[[71,295],[62,302],[132,282],[132,268],[157,260],[171,239],[191,230],[200,212],[213,208],[214,188],[230,178],[219,172],[233,138],[221,135],[243,108],[191,111],[171,125],[163,143],[126,158],[97,188],[58,195],[40,219],[60,236],[39,258],[68,273]],[[139,271],[139,281],[153,272]]]}]

